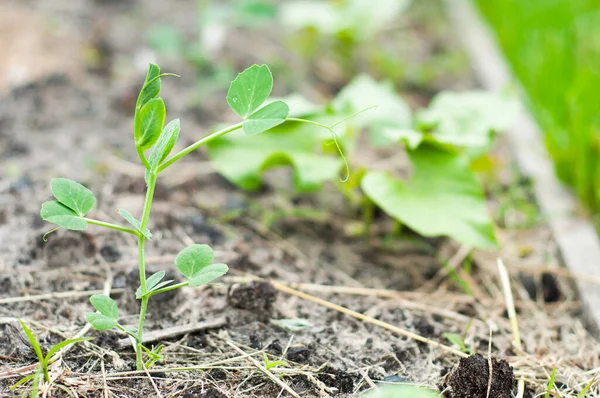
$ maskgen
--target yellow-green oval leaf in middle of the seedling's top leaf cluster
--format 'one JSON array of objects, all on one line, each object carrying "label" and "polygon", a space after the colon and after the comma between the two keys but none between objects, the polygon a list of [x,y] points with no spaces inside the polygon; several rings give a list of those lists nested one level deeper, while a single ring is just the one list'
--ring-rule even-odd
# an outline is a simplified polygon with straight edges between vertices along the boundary
[{"label": "yellow-green oval leaf in middle of the seedling's top leaf cluster", "polygon": [[167,109],[162,98],[149,100],[136,114],[134,121],[135,145],[142,150],[150,148],[158,141]]}]

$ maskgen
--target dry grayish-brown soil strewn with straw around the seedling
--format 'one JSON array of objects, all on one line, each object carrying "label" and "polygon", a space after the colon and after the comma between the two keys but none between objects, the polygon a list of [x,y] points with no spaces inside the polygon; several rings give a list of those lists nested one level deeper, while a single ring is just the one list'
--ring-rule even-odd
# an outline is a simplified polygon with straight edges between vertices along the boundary
[{"label": "dry grayish-brown soil strewn with straw around the seedling", "polygon": [[[9,387],[19,379],[15,373],[25,375],[26,367],[35,363],[15,323],[17,317],[30,324],[45,351],[86,326],[84,314],[90,310],[87,297],[92,292],[113,289],[121,321],[136,322],[135,242],[98,228],[85,233],[58,231],[44,242],[42,235],[50,227],[40,220],[39,208],[50,198],[50,178],[64,176],[95,192],[96,218],[120,222],[118,208],[141,212],[143,170],[132,146],[131,115],[147,61],[158,58],[163,70],[183,76],[163,85],[169,115],[182,119],[179,147],[193,142],[213,123],[233,120],[222,88],[199,100],[197,84],[207,76],[189,62],[152,53],[145,44],[149,29],[145,21],[172,23],[185,37],[194,37],[190,10],[195,2],[166,3],[0,0],[0,26],[9,35],[20,37],[20,25],[12,16],[24,15],[35,22],[26,29],[35,40],[19,40],[39,45],[42,51],[46,30],[55,35],[71,32],[69,37],[77,40],[62,42],[61,51],[78,54],[67,68],[61,65],[65,60],[61,52],[44,52],[42,68],[41,52],[24,51],[18,60],[11,58],[11,65],[22,63],[35,73],[26,82],[0,84],[2,396],[25,391],[11,393]],[[395,34],[405,39],[397,40],[403,43],[398,44],[398,54],[410,61],[408,83],[399,88],[416,107],[439,90],[473,88],[476,82],[466,61],[461,64],[466,57],[457,49],[440,5],[415,3],[421,5],[415,4],[402,18],[403,28]],[[57,26],[61,28],[53,30]],[[340,84],[335,71],[326,75],[323,65],[318,72],[294,69],[297,56],[282,45],[278,32],[276,26],[231,29],[216,58],[235,70],[271,60],[281,68],[282,60],[291,59],[287,76],[298,72],[303,79],[277,80],[276,73],[277,94],[294,91],[302,80],[313,89],[301,91],[315,100],[333,95]],[[33,53],[36,57],[28,58]],[[453,66],[428,80],[418,78],[415,71],[445,53],[462,67]],[[0,65],[4,61],[0,55]],[[194,242],[210,244],[216,260],[227,263],[231,272],[217,285],[156,296],[146,328],[161,330],[219,317],[226,318],[226,325],[161,341],[165,360],[150,376],[134,372],[133,351],[118,345],[123,336],[88,331],[94,340],[71,349],[53,366],[55,381],[47,387],[51,396],[67,396],[66,391],[134,398],[157,396],[157,391],[174,397],[288,396],[235,346],[260,363],[263,352],[270,361],[285,360],[279,370],[282,380],[302,397],[350,397],[375,384],[391,383],[449,388],[446,395],[454,398],[485,397],[490,329],[491,391],[496,394],[490,397],[510,396],[515,376],[527,380],[526,396],[543,392],[554,366],[559,366],[561,393],[576,395],[592,377],[586,371],[600,366],[596,341],[582,325],[568,279],[555,275],[563,274],[555,272],[560,261],[548,228],[543,220],[526,222],[531,209],[535,213],[535,204],[502,143],[492,159],[496,166],[486,186],[500,226],[502,252],[472,252],[452,241],[423,239],[410,231],[393,236],[392,223],[383,214],[376,216],[372,234],[365,239],[352,232],[359,214],[342,202],[333,186],[320,194],[294,194],[287,188],[287,172],[276,171],[268,173],[261,192],[245,194],[214,173],[204,152],[190,156],[159,179],[149,225],[154,239],[147,247],[148,272],[166,269],[168,278],[176,279],[174,255]],[[318,216],[306,218],[290,211],[315,208],[320,210]],[[296,216],[273,217],[281,213]],[[276,221],[266,223],[268,219]],[[499,256],[513,275],[525,353],[512,342],[496,277]],[[449,272],[445,263],[455,272]],[[470,273],[466,264],[473,268]],[[361,322],[281,292],[269,282],[254,281],[255,277],[284,281],[449,347],[445,333],[462,335],[469,350],[486,356],[460,359],[455,352]],[[396,293],[390,296],[390,290]],[[304,327],[291,330],[271,322],[282,319],[302,320]],[[592,394],[598,392],[592,389]]]}]

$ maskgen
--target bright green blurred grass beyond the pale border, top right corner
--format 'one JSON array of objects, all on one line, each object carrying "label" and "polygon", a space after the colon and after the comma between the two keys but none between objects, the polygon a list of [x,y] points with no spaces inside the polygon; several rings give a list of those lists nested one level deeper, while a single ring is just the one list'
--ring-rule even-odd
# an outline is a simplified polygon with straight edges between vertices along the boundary
[{"label": "bright green blurred grass beyond the pale border, top right corner", "polygon": [[544,133],[558,176],[600,213],[597,0],[473,0]]}]

